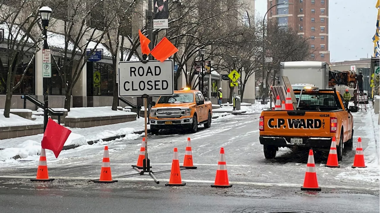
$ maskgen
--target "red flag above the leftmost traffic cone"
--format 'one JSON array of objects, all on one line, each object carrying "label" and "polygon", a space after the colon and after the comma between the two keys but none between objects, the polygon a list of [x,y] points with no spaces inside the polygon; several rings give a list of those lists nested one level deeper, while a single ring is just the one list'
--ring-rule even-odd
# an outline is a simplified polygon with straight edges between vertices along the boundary
[{"label": "red flag above the leftmost traffic cone", "polygon": [[44,132],[44,137],[42,138],[41,147],[43,149],[52,150],[55,157],[58,158],[58,155],[62,151],[63,145],[65,144],[70,133],[71,131],[68,128],[57,124],[49,118]]}]

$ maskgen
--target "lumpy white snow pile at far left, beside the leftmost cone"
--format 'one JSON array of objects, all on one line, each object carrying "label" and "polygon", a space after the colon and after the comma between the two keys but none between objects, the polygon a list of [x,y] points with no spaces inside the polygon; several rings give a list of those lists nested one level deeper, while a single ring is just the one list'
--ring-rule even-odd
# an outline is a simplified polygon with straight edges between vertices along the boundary
[{"label": "lumpy white snow pile at far left, beside the leftmost cone", "polygon": [[0,150],[0,161],[9,160],[12,157],[19,155],[21,158],[38,155],[41,151],[41,143],[37,141],[27,140],[16,147]]}]

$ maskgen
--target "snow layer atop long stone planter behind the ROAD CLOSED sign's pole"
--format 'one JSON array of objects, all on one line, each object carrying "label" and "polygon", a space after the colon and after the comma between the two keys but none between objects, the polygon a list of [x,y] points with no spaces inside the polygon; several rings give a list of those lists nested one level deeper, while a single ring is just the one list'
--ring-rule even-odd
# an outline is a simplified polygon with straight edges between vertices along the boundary
[{"label": "snow layer atop long stone planter behind the ROAD CLOSED sign's pole", "polygon": [[118,115],[135,115],[136,113],[112,110],[111,107],[75,107],[71,108],[66,118],[105,117]]}]

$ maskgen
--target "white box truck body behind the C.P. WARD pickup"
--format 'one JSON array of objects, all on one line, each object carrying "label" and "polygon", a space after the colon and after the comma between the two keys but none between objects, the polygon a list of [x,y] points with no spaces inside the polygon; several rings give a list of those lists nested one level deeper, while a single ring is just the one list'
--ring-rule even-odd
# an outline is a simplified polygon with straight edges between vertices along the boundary
[{"label": "white box truck body behind the C.P. WARD pickup", "polygon": [[[311,84],[329,88],[329,64],[323,61],[286,61],[280,63],[280,76],[287,76],[292,85]],[[280,80],[280,84],[284,85]]]}]

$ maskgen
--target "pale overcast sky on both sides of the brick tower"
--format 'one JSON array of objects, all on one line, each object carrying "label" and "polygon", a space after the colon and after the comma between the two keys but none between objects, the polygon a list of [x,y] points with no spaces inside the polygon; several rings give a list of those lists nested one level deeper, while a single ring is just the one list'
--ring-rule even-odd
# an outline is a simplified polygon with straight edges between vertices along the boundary
[{"label": "pale overcast sky on both sides of the brick tower", "polygon": [[[317,1],[317,0],[316,0]],[[256,0],[255,16],[267,11],[267,0]],[[330,61],[358,60],[373,55],[377,0],[329,0]]]}]

